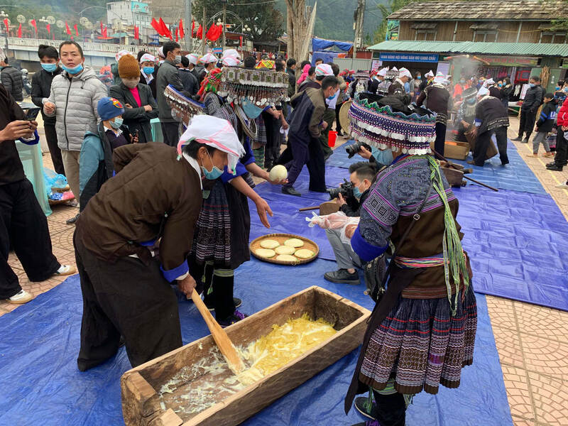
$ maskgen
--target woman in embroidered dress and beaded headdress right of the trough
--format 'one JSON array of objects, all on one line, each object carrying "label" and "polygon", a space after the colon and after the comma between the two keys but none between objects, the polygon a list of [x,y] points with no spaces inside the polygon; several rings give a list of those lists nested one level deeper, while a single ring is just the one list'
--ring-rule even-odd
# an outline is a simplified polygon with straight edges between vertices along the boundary
[{"label": "woman in embroidered dress and beaded headdress right of the trough", "polygon": [[[372,112],[381,119],[374,122],[374,131],[385,129],[388,120],[388,114],[377,111]],[[389,239],[395,258],[386,293],[371,315],[345,409],[356,393],[371,389],[376,403],[356,398],[356,408],[373,419],[360,425],[404,426],[412,395],[422,390],[435,394],[440,384],[457,388],[461,368],[472,364],[476,300],[455,219],[458,200],[432,155],[424,154],[430,150],[428,138],[373,135],[357,129],[357,118],[355,111],[351,126],[360,140],[381,148],[396,146],[407,154],[378,173],[359,226],[347,230],[364,261],[381,256]]]}]

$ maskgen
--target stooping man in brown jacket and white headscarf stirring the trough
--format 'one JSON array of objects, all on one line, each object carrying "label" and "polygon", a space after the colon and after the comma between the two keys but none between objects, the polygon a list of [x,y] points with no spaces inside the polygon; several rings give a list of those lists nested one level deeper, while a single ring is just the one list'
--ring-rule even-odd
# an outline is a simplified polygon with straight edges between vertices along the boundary
[{"label": "stooping man in brown jacket and white headscarf stirring the trough", "polygon": [[[89,200],[73,236],[83,317],[80,371],[116,354],[138,366],[182,345],[178,300],[195,280],[187,255],[202,204],[202,180],[234,170],[244,149],[226,120],[196,116],[175,148],[137,143],[116,148],[116,176]],[[154,257],[159,240],[160,261]]]}]

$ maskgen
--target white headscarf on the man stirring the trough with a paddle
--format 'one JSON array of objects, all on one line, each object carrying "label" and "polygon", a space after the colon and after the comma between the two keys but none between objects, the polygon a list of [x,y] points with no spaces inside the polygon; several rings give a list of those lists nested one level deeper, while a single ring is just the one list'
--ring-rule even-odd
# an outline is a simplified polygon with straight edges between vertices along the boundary
[{"label": "white headscarf on the man stirring the trough with a paddle", "polygon": [[178,143],[178,154],[182,155],[183,146],[192,139],[227,153],[227,169],[229,173],[236,174],[236,163],[245,151],[229,121],[208,115],[193,116]]}]

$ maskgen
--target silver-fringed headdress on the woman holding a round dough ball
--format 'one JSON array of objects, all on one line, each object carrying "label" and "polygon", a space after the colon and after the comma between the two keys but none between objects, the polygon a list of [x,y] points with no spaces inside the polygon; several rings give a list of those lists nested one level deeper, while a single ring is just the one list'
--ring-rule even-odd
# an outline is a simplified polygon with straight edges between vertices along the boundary
[{"label": "silver-fringed headdress on the woman holding a round dough ball", "polygon": [[242,104],[246,99],[257,107],[278,105],[288,101],[288,74],[273,70],[251,70],[223,67],[219,95],[227,101]]}]

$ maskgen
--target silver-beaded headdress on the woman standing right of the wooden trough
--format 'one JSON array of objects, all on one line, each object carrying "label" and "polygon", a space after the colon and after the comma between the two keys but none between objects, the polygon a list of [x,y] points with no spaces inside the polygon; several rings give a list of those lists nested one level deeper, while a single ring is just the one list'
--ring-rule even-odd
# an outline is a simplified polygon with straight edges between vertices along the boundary
[{"label": "silver-beaded headdress on the woman standing right of the wooden trough", "polygon": [[[421,114],[427,111],[427,114]],[[436,138],[436,115],[420,109],[411,114],[379,105],[365,97],[354,99],[349,109],[349,131],[356,141],[378,149],[398,148],[402,153],[430,153],[430,142]]]}]

